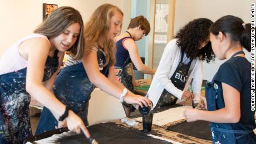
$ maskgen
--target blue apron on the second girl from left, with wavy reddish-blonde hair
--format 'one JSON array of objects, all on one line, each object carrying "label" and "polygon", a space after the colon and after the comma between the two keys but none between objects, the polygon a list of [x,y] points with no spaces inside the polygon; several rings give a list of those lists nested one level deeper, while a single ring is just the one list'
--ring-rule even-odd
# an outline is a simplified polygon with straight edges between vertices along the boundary
[{"label": "blue apron on the second girl from left, with wavy reddish-blonde hair", "polygon": [[[106,58],[101,50],[97,51],[97,58],[99,67],[102,67],[106,62]],[[109,75],[109,67],[110,63],[100,70],[106,77]],[[76,115],[82,118],[85,125],[88,126],[88,105],[94,88],[86,74],[83,64],[78,63],[61,69],[57,75],[53,92],[58,100],[70,107]],[[55,130],[55,126],[58,126],[58,121],[48,108],[43,107],[36,134]]]}]

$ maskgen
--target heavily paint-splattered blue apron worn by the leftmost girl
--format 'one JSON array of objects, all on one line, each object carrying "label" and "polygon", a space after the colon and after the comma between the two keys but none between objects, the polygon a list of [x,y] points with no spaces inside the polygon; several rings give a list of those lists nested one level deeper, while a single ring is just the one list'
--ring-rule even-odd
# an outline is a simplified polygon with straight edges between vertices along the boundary
[{"label": "heavily paint-splattered blue apron worn by the leftmost girl", "polygon": [[[58,51],[48,56],[43,81],[58,69]],[[31,97],[26,92],[27,68],[0,75],[0,143],[23,143],[32,136],[29,120]]]}]

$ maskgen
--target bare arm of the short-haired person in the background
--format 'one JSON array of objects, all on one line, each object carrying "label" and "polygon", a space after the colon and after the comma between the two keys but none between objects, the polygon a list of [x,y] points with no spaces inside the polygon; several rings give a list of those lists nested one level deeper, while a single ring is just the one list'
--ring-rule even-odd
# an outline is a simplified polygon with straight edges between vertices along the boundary
[{"label": "bare arm of the short-haired person in the background", "polygon": [[128,49],[131,61],[134,63],[138,71],[146,74],[155,74],[155,69],[147,67],[140,59],[137,44],[133,39],[126,39],[124,41],[125,47]]}]

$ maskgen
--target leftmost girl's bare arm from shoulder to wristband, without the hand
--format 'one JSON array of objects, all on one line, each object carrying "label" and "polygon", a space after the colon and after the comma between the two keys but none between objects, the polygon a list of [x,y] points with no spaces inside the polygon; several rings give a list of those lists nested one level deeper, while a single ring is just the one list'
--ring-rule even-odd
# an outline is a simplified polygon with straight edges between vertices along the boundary
[{"label": "leftmost girl's bare arm from shoulder to wristband, without the hand", "polygon": [[[50,51],[50,43],[45,39],[43,39],[43,41],[30,39],[29,41],[31,46],[37,47],[37,51],[33,51],[32,48],[28,51],[26,90],[32,97],[35,97],[37,101],[41,102],[42,105],[50,108],[53,112],[57,113],[58,116],[61,116],[65,111],[65,106],[58,101],[53,93],[47,90],[42,83],[45,62],[48,52]],[[54,79],[55,77],[52,76],[52,81]],[[51,88],[48,87],[48,89]]]}]

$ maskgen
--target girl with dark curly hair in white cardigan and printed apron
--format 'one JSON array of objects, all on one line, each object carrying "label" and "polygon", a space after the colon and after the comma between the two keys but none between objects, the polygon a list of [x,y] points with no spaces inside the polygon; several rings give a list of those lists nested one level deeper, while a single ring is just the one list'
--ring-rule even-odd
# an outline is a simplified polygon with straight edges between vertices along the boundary
[{"label": "girl with dark curly hair in white cardigan and printed apron", "polygon": [[[209,42],[212,23],[207,18],[194,19],[166,45],[148,92],[154,107],[173,105],[178,99],[201,101],[203,61],[209,63],[215,57]],[[192,78],[193,93],[187,91]]]}]

